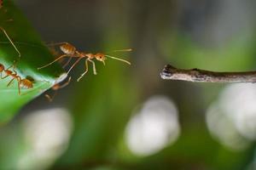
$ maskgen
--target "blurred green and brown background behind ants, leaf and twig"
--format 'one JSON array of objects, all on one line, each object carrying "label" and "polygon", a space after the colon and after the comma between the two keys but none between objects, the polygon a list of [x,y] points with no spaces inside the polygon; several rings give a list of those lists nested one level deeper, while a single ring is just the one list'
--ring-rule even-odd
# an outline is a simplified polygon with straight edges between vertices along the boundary
[{"label": "blurred green and brown background behind ants, leaf and twig", "polygon": [[255,1],[15,3],[45,42],[132,48],[112,54],[132,65],[96,62],[98,75],[90,65],[76,82],[81,62],[54,102],[42,95],[26,105],[0,127],[0,169],[256,169],[254,84],[160,79],[167,63],[254,70]]}]

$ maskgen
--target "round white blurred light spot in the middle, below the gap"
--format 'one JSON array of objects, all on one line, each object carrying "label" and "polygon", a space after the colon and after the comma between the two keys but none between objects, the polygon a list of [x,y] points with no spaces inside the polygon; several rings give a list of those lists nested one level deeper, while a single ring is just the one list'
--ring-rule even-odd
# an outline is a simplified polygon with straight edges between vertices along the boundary
[{"label": "round white blurred light spot in the middle, below the gap", "polygon": [[125,131],[125,141],[135,155],[148,156],[174,143],[179,133],[177,108],[172,100],[154,96],[131,117]]}]

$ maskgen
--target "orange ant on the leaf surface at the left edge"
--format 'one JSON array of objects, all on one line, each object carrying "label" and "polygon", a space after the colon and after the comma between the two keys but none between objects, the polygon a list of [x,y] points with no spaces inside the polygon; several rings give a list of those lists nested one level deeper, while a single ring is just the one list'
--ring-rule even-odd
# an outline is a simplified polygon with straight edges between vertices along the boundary
[{"label": "orange ant on the leaf surface at the left edge", "polygon": [[[14,65],[12,65],[14,67]],[[10,67],[12,67],[10,66]],[[9,68],[10,68],[9,67]],[[19,89],[19,95],[20,95],[20,88],[33,88],[33,82],[28,78],[21,78],[17,72],[13,69],[13,71],[10,71],[9,68],[5,69],[4,65],[0,64],[0,76],[1,79],[12,77],[12,79],[7,84],[7,87],[16,79],[18,82],[18,89]],[[5,76],[3,77],[3,72],[5,73]]]}]

